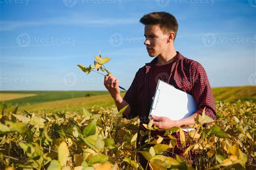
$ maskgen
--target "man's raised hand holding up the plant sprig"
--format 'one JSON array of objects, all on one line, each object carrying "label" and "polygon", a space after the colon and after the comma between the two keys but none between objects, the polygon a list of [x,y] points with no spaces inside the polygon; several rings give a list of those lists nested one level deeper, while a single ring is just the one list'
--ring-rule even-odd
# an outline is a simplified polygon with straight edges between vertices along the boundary
[{"label": "man's raised hand holding up the plant sprig", "polygon": [[112,74],[105,75],[104,86],[109,91],[114,100],[120,97],[120,89],[118,87],[118,79]]}]

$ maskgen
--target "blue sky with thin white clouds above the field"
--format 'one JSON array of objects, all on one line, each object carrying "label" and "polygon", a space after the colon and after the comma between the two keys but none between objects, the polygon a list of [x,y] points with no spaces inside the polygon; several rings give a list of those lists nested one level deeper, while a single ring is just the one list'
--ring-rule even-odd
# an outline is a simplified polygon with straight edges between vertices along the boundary
[{"label": "blue sky with thin white clouds above the field", "polygon": [[212,87],[256,85],[256,1],[0,0],[0,90],[105,90],[77,64],[99,51],[128,89],[152,58],[139,19],[153,11],[179,23],[174,44],[200,62]]}]

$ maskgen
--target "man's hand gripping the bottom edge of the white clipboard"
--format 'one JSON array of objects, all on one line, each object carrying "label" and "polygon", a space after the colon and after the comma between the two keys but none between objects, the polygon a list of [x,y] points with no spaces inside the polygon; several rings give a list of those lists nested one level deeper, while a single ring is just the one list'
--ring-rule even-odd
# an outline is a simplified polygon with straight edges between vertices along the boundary
[{"label": "man's hand gripping the bottom edge of the white clipboard", "polygon": [[173,126],[177,126],[177,122],[172,121],[168,117],[160,117],[160,116],[151,115],[151,118],[154,119],[153,125],[156,125],[157,128],[160,128],[160,129],[170,129]]}]

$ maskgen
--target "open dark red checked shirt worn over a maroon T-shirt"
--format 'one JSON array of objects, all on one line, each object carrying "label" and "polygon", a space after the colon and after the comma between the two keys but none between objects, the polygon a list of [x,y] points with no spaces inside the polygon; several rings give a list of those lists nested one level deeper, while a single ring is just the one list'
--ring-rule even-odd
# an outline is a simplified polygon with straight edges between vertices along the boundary
[{"label": "open dark red checked shirt worn over a maroon T-shirt", "polygon": [[[150,63],[146,63],[136,73],[131,87],[127,90],[124,100],[129,103],[131,111],[129,116],[125,118],[133,118],[139,116],[140,130],[143,130],[142,124],[149,123],[149,112],[151,108],[150,98],[150,83],[152,82],[152,66],[156,63],[157,58],[154,58]],[[177,89],[183,90],[192,95],[197,103],[197,111],[200,115],[205,109],[205,115],[216,119],[215,103],[212,90],[208,82],[205,69],[197,61],[187,59],[177,52],[177,59],[171,65],[169,84]],[[170,103],[171,104],[171,103]],[[180,145],[179,133],[172,134],[177,139]],[[186,132],[185,135],[187,136]],[[174,150],[174,153],[181,155],[183,150],[181,146]]]}]

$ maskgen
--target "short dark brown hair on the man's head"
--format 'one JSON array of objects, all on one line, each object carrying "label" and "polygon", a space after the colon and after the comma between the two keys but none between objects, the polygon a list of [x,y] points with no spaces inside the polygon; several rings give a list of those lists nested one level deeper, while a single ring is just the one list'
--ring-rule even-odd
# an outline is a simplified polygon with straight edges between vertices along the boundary
[{"label": "short dark brown hair on the man's head", "polygon": [[[174,39],[178,32],[178,22],[176,18],[167,12],[151,12],[144,15],[139,20],[144,25],[159,25],[160,29],[166,34],[173,31],[175,33]],[[173,40],[174,40],[173,39]]]}]

